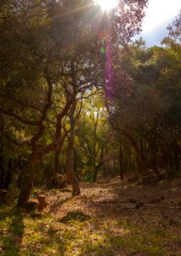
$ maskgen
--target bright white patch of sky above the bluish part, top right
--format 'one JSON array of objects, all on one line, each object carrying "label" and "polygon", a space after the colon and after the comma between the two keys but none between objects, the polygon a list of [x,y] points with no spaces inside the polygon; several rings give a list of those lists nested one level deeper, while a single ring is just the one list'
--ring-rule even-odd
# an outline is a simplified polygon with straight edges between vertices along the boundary
[{"label": "bright white patch of sky above the bluish part, top right", "polygon": [[143,32],[150,32],[164,21],[178,15],[181,0],[150,0],[145,9]]}]

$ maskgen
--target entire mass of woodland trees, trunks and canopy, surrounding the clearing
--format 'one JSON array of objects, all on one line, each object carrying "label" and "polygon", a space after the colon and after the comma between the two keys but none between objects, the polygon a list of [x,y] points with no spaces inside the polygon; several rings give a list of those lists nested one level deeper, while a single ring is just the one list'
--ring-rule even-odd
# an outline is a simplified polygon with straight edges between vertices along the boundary
[{"label": "entire mass of woodland trees, trunks and canopy, surrounding the clearing", "polygon": [[164,47],[140,32],[147,0],[2,1],[1,188],[16,181],[18,206],[34,183],[52,185],[180,167],[180,14]]}]

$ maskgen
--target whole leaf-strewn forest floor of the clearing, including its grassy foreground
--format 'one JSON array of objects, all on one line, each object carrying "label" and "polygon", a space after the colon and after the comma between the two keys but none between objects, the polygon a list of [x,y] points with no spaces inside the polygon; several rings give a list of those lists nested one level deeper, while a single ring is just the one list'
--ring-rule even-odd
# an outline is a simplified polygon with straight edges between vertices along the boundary
[{"label": "whole leaf-strewn forest floor of the clearing, including its grassy foreground", "polygon": [[0,255],[181,255],[181,178],[154,186],[81,183],[43,191],[42,214],[0,206]]}]

